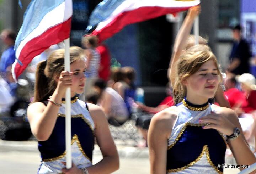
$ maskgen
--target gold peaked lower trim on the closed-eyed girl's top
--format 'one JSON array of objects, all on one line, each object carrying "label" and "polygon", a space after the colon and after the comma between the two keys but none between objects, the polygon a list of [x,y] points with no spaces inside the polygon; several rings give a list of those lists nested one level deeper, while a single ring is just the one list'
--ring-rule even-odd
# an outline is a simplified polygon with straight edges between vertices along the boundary
[{"label": "gold peaked lower trim on the closed-eyed girl's top", "polygon": [[179,172],[181,170],[185,170],[188,167],[191,167],[192,165],[194,165],[196,162],[198,162],[204,155],[204,153],[206,154],[207,157],[207,161],[209,162],[209,164],[219,173],[222,174],[222,172],[213,164],[212,160],[210,159],[210,154],[209,154],[209,148],[207,145],[203,146],[203,150],[201,152],[201,154],[197,157],[197,159],[195,159],[194,161],[192,161],[191,163],[189,163],[188,165],[185,165],[184,167],[181,168],[177,168],[177,169],[170,169],[167,170],[167,173],[170,172]]}]

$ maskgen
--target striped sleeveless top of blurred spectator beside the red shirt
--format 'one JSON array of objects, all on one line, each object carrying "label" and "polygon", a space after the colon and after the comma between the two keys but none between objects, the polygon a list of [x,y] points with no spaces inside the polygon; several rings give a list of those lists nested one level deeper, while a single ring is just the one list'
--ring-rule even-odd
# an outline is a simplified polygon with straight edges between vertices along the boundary
[{"label": "striped sleeveless top of blurred spectator beside the red shirt", "polygon": [[87,78],[98,78],[98,70],[100,67],[100,53],[96,49],[90,49],[92,57],[85,75]]}]

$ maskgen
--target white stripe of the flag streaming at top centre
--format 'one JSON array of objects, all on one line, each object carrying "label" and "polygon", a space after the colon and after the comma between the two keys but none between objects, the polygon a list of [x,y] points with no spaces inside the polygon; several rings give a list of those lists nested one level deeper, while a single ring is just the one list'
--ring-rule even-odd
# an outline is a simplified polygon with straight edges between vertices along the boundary
[{"label": "white stripe of the flag streaming at top centre", "polygon": [[[120,4],[108,17],[105,21],[102,21],[98,24],[96,31],[101,30],[104,28],[108,23],[113,21],[116,16],[120,13],[126,11],[132,11],[138,9],[140,7],[163,7],[163,8],[183,8],[183,7],[191,7],[194,5],[198,5],[200,0],[194,1],[176,1],[176,0],[126,0],[122,4]],[[157,5],[156,5],[157,4]]]}]

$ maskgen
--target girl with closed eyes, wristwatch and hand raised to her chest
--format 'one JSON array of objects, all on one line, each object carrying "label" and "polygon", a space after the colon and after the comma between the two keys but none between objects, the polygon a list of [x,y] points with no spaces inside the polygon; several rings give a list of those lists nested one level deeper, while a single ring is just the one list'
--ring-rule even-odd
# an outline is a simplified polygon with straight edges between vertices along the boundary
[{"label": "girl with closed eyes, wristwatch and hand raised to her chest", "polygon": [[235,112],[208,102],[222,80],[210,48],[188,48],[176,69],[176,105],[155,114],[149,126],[151,174],[222,173],[226,145],[238,164],[255,163]]}]

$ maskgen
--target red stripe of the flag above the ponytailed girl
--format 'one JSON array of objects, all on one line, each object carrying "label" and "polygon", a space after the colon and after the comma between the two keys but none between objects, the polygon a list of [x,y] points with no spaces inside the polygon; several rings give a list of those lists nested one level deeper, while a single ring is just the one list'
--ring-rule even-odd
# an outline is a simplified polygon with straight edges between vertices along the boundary
[{"label": "red stripe of the flag above the ponytailed girl", "polygon": [[41,54],[44,50],[51,45],[57,44],[70,36],[71,30],[71,17],[54,27],[49,28],[44,33],[36,38],[28,41],[20,52],[18,59],[22,62],[23,66],[16,63],[14,73],[16,78],[26,69],[32,59]]}]

